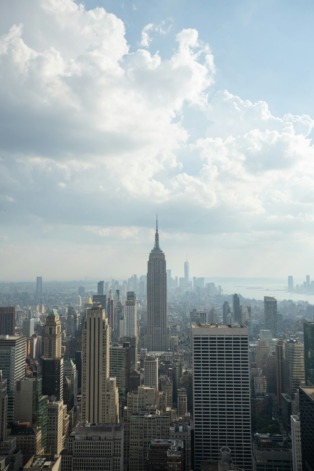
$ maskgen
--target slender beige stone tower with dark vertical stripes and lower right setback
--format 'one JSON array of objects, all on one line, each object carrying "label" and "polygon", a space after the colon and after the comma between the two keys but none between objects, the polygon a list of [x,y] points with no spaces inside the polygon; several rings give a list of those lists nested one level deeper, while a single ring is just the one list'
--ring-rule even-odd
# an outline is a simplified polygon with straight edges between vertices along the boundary
[{"label": "slender beige stone tower with dark vertical stripes and lower right setback", "polygon": [[82,332],[82,420],[119,422],[116,379],[109,377],[110,327],[100,305],[86,310]]}]

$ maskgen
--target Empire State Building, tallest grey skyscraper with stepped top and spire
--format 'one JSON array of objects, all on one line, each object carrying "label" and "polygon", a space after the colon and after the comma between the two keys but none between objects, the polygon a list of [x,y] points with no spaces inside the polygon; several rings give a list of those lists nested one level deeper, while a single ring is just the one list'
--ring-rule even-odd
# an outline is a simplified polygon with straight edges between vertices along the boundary
[{"label": "Empire State Building, tallest grey skyscraper with stepped top and spire", "polygon": [[159,246],[156,221],[155,245],[147,263],[147,330],[145,347],[148,351],[168,351],[167,270],[165,254]]}]

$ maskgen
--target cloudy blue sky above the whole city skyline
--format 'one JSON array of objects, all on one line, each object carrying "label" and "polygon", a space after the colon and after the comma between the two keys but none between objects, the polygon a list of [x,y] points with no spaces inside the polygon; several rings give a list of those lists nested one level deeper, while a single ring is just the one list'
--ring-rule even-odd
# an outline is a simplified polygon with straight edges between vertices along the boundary
[{"label": "cloudy blue sky above the whole city skyline", "polygon": [[[2,0],[0,280],[301,276],[314,4]],[[314,273],[313,273],[314,276]]]}]

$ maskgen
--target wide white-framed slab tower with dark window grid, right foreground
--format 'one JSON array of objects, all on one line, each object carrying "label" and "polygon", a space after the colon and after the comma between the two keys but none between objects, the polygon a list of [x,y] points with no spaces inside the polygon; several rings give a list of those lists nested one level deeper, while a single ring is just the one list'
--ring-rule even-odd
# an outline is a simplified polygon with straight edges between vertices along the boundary
[{"label": "wide white-framed slab tower with dark window grid, right foreground", "polygon": [[221,447],[251,471],[249,329],[192,325],[195,471]]}]

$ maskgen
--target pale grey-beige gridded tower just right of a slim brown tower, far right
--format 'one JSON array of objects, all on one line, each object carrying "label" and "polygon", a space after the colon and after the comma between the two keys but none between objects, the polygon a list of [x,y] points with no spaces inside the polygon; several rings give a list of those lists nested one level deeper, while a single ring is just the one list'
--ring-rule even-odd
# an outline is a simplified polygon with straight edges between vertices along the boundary
[{"label": "pale grey-beige gridded tower just right of a slim brown tower, far right", "polygon": [[304,345],[294,339],[283,341],[283,391],[294,399],[300,382],[304,382]]}]

